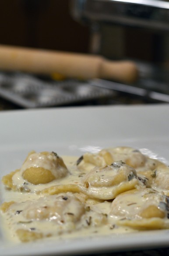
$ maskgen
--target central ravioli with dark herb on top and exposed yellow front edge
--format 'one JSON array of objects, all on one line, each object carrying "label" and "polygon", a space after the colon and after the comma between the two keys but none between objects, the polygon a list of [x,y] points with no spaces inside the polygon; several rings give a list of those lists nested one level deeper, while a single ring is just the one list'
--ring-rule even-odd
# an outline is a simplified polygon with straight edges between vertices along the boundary
[{"label": "central ravioli with dark herb on top and exposed yellow front edge", "polygon": [[105,167],[95,167],[82,178],[81,192],[94,198],[109,200],[114,199],[122,192],[145,186],[146,179],[137,177],[133,167],[117,161]]}]

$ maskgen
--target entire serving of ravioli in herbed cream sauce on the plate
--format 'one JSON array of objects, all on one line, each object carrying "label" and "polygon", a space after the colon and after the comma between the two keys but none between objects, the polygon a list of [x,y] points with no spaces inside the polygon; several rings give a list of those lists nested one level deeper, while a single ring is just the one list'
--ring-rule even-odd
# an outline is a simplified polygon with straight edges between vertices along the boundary
[{"label": "entire serving of ravioli in herbed cream sauce on the plate", "polygon": [[21,242],[169,228],[169,167],[131,147],[32,151],[2,183],[0,213]]}]

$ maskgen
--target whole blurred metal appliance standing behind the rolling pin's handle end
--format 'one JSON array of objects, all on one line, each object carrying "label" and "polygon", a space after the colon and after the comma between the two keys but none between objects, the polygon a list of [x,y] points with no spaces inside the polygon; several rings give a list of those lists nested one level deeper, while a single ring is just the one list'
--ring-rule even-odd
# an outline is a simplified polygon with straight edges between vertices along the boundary
[{"label": "whole blurred metal appliance standing behind the rolling pin's handle end", "polygon": [[90,26],[91,53],[135,60],[140,78],[134,86],[169,95],[169,1],[70,0],[70,12]]}]

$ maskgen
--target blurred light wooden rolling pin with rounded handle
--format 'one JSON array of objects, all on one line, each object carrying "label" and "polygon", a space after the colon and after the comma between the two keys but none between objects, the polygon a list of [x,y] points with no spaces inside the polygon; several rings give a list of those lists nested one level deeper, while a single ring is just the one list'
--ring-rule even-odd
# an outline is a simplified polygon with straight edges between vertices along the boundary
[{"label": "blurred light wooden rolling pin with rounded handle", "polygon": [[136,81],[138,70],[131,61],[109,61],[90,54],[0,45],[0,70],[36,74],[61,74],[67,78],[105,78],[119,82]]}]

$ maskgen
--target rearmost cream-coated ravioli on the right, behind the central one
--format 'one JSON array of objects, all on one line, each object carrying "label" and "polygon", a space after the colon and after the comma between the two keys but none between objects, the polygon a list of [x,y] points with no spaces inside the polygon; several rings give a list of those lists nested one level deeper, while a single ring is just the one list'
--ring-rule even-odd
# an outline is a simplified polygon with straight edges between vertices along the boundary
[{"label": "rearmost cream-coated ravioli on the right, behind the central one", "polygon": [[165,164],[156,159],[151,159],[138,149],[125,146],[102,149],[99,153],[85,153],[77,160],[77,167],[82,170],[92,169],[111,165],[113,162],[120,160],[133,167],[138,176],[143,175],[144,178],[147,178],[149,185],[152,185],[155,180],[156,170],[166,168]]}]

